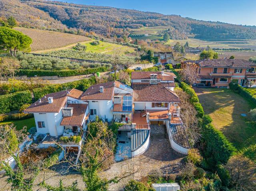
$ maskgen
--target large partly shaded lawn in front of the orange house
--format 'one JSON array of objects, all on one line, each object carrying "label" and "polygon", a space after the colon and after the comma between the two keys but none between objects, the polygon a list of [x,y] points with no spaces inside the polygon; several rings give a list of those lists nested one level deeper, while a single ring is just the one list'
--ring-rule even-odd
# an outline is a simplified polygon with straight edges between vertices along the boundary
[{"label": "large partly shaded lawn in front of the orange house", "polygon": [[[239,152],[256,161],[256,124],[248,112],[256,105],[229,89],[195,88],[205,114]],[[241,114],[247,114],[246,117]]]}]

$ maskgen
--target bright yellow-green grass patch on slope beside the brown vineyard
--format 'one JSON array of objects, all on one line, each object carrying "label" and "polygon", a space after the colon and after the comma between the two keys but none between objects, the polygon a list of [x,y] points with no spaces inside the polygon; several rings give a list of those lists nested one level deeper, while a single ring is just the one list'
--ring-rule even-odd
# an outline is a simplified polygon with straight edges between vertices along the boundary
[{"label": "bright yellow-green grass patch on slope beside the brown vineyard", "polygon": [[86,45],[86,52],[112,54],[114,49],[118,49],[118,50],[120,49],[122,55],[128,52],[129,53],[134,52],[134,48],[128,47],[128,46],[102,42],[102,41],[100,41],[99,45],[91,45],[90,42],[91,41],[81,43],[82,45]]}]

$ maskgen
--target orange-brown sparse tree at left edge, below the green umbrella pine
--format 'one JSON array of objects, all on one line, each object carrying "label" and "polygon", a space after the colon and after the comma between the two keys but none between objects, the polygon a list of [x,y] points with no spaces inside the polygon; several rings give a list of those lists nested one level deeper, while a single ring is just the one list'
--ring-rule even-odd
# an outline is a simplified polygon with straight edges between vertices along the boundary
[{"label": "orange-brown sparse tree at left edge, below the green umbrella pine", "polygon": [[0,77],[3,81],[8,81],[8,76],[14,79],[17,70],[20,68],[18,60],[2,57],[0,59]]}]

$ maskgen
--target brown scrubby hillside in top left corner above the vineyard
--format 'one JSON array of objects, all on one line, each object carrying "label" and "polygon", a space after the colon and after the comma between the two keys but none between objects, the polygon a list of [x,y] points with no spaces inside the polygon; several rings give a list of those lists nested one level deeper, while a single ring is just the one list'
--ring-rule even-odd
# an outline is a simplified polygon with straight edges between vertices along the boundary
[{"label": "brown scrubby hillside in top left corner above the vineyard", "polygon": [[0,0],[0,18],[9,16],[14,16],[22,26],[67,30],[67,26],[42,10],[21,3],[19,0]]}]

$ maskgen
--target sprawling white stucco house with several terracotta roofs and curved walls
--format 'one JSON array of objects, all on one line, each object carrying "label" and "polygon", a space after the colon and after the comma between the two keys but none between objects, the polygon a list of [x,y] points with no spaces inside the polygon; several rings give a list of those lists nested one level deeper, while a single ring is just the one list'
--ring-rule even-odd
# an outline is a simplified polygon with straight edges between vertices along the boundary
[{"label": "sprawling white stucco house with several terracotta roofs and curved walls", "polygon": [[[30,105],[25,113],[33,113],[36,130],[50,138],[84,136],[88,124],[99,116],[104,122],[122,123],[118,130],[118,144],[126,144],[128,157],[144,153],[150,141],[150,125],[165,125],[172,148],[187,154],[179,97],[174,93],[173,73],[132,72],[131,87],[118,81],[92,85],[85,92],[77,89],[51,93]],[[180,139],[180,134],[184,140]],[[63,145],[78,148],[79,144]],[[120,146],[119,152],[122,152]],[[122,157],[116,157],[117,160]]]}]

